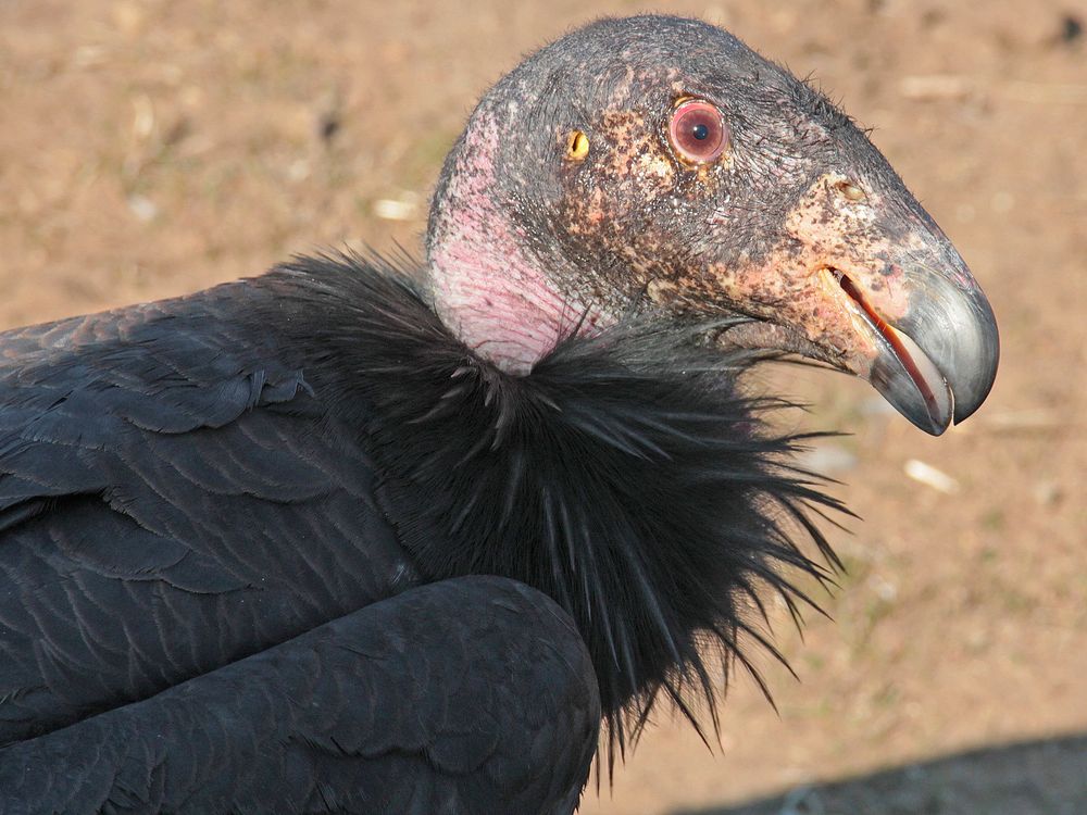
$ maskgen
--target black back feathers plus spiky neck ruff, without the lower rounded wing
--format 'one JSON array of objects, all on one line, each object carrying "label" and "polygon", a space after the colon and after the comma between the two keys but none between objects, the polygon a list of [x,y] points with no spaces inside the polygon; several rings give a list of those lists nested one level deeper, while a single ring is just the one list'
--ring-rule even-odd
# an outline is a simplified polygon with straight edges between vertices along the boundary
[{"label": "black back feathers plus spiky neck ruff, without the lower rounded wing", "polygon": [[43,359],[5,390],[2,737],[472,574],[574,615],[616,738],[661,689],[712,699],[698,638],[759,637],[759,579],[796,594],[775,562],[823,574],[780,522],[826,499],[737,389],[760,355],[691,336],[635,319],[514,378],[347,258],[9,335]]}]

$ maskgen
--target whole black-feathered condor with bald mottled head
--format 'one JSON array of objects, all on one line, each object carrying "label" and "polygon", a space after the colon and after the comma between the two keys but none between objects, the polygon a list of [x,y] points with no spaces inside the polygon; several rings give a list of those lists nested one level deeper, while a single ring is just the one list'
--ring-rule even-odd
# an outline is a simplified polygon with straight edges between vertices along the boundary
[{"label": "whole black-feathered condor with bald mottled head", "polygon": [[[690,38],[701,50],[682,47]],[[700,54],[719,46],[722,83],[758,85],[741,68],[765,65],[766,93],[792,108],[762,121],[755,105],[730,164],[689,167],[647,111],[689,60],[710,96]],[[577,53],[635,64],[601,86],[589,72],[564,97],[555,76]],[[766,424],[783,403],[752,396],[745,373],[814,349],[871,373],[926,429],[950,421],[949,403],[922,396],[937,376],[958,387],[965,352],[935,346],[944,373],[917,373],[877,342],[878,323],[850,353],[833,321],[786,319],[786,300],[767,317],[770,293],[800,279],[789,259],[810,260],[782,230],[811,190],[835,195],[816,172],[826,145],[733,238],[724,215],[705,234],[747,153],[774,134],[788,143],[772,155],[802,150],[813,128],[878,170],[894,217],[923,214],[812,91],[723,32],[663,17],[597,24],[511,77],[447,162],[426,263],[298,259],[0,335],[7,810],[570,812],[601,716],[610,758],[661,700],[715,727],[735,662],[751,667],[745,648],[773,649],[764,590],[797,615],[809,601],[788,575],[825,580],[837,563],[811,518],[841,507],[789,464],[805,437]],[[496,111],[522,103],[496,141]],[[588,159],[561,152],[574,116]],[[789,142],[785,124],[805,116]],[[642,166],[677,186],[627,225],[635,262],[602,249],[622,222],[597,215],[613,192],[627,215],[658,195]],[[892,274],[870,222],[858,235],[826,218]],[[909,223],[892,233],[911,259],[922,239],[953,252],[929,222]],[[745,255],[735,241],[755,227]],[[680,255],[690,279],[673,274]],[[715,277],[740,258],[767,290]],[[653,296],[667,286],[686,293]],[[866,309],[884,308],[879,291]],[[964,291],[984,324],[984,298]],[[788,333],[753,342],[752,326]],[[869,352],[883,367],[862,369]],[[967,401],[983,380],[967,380]]]}]

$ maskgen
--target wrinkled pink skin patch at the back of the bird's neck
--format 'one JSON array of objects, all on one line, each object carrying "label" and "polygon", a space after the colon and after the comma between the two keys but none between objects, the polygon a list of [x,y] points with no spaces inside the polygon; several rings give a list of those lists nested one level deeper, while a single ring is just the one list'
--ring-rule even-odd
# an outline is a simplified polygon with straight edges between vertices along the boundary
[{"label": "wrinkled pink skin patch at the back of the bird's neck", "polygon": [[435,201],[428,271],[435,308],[450,330],[503,371],[526,374],[584,306],[559,294],[493,199],[498,139],[493,116],[477,112]]}]

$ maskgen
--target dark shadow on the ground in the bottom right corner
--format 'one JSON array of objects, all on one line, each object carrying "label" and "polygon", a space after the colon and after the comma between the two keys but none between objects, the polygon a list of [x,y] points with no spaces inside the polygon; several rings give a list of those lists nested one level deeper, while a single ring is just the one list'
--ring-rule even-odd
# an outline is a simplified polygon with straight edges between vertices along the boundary
[{"label": "dark shadow on the ground in the bottom right corner", "polygon": [[947,755],[674,815],[1083,815],[1087,735]]}]

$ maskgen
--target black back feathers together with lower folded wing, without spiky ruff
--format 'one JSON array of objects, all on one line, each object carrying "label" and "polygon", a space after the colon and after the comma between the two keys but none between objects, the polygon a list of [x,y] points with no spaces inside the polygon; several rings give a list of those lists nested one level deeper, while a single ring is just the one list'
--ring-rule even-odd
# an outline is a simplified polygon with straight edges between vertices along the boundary
[{"label": "black back feathers together with lower folded wing, without spiky ruff", "polygon": [[[382,365],[433,313],[302,266],[0,335],[0,812],[573,810],[601,716],[574,620],[423,585],[329,373],[410,399]],[[329,310],[372,321],[350,360],[309,341]]]}]

